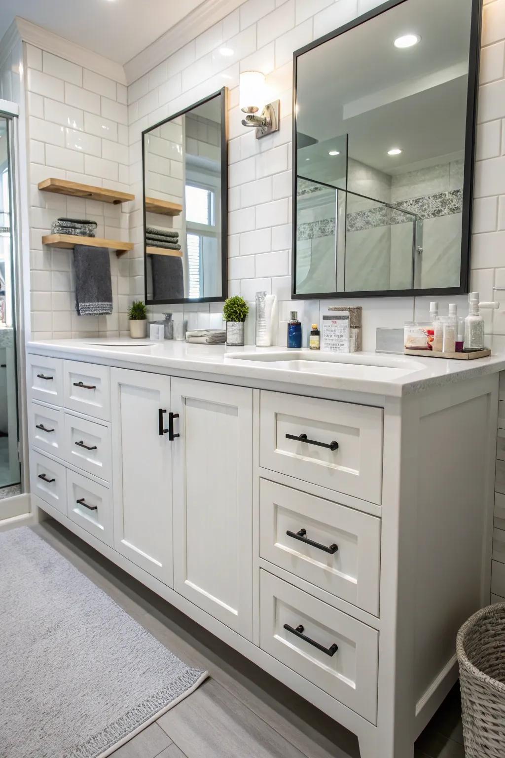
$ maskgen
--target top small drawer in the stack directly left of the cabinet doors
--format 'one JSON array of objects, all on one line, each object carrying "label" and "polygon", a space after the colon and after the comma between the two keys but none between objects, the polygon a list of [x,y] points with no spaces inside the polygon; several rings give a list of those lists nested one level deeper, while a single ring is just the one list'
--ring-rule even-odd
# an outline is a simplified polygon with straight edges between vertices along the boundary
[{"label": "top small drawer in the stack directly left of the cabinet doors", "polygon": [[111,421],[111,380],[108,366],[65,361],[63,374],[65,408]]}]

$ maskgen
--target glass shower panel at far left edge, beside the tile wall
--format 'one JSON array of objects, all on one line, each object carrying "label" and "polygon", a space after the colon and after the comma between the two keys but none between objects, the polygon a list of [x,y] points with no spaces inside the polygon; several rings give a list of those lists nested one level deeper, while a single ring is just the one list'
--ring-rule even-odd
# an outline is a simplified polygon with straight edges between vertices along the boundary
[{"label": "glass shower panel at far left edge, beside the tile wall", "polygon": [[0,116],[0,499],[20,492],[11,126]]}]

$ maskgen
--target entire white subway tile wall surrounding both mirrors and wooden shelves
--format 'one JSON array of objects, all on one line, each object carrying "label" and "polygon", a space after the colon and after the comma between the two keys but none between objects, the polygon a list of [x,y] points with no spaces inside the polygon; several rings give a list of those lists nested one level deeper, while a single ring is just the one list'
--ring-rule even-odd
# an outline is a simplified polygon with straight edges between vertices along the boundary
[{"label": "entire white subway tile wall surrounding both mirrors and wooden shelves", "polygon": [[[483,0],[481,87],[472,240],[472,288],[482,299],[503,300],[505,283],[505,0]],[[152,124],[229,87],[229,293],[254,300],[276,293],[279,318],[297,310],[304,339],[319,318],[320,301],[291,302],[292,52],[380,0],[247,0],[148,74],[122,85],[26,45],[32,183],[32,330],[34,337],[128,334],[126,310],[143,298],[141,132]],[[198,11],[197,11],[198,12]],[[223,57],[226,47],[232,55]],[[260,141],[242,127],[238,75],[263,70],[281,101],[280,130]],[[127,102],[127,105],[126,105]],[[39,193],[48,176],[117,186],[136,195],[126,206],[107,206]],[[86,215],[98,233],[134,243],[113,265],[114,314],[78,318],[73,305],[71,252],[42,249],[42,233],[58,215]],[[129,229],[128,229],[129,227]],[[441,305],[448,299],[438,298]],[[454,298],[451,298],[454,300]],[[466,296],[457,299],[463,310]],[[329,305],[332,301],[321,301]],[[339,300],[340,304],[344,301]],[[423,318],[426,298],[346,299],[363,305],[363,349],[375,348],[376,327],[402,327]],[[220,324],[222,305],[163,306],[190,327]],[[488,340],[505,349],[505,315],[485,314]],[[252,334],[249,330],[249,334]]]}]

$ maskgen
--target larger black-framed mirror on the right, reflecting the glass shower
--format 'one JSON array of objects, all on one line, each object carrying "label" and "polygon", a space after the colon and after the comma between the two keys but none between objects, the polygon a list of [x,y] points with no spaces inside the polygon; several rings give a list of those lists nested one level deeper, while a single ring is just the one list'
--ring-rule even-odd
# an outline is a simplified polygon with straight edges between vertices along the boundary
[{"label": "larger black-framed mirror on the right, reflecting the glass shower", "polygon": [[390,0],[294,54],[294,299],[469,289],[481,0]]}]

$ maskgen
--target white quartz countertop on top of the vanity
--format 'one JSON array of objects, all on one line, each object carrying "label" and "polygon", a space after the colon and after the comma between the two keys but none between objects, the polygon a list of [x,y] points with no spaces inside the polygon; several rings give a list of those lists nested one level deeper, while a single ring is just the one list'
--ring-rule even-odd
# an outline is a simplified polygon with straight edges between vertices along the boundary
[{"label": "white quartz countertop on top of the vanity", "polygon": [[127,338],[44,340],[29,342],[26,349],[73,360],[131,365],[145,371],[171,369],[240,377],[241,384],[247,379],[253,383],[275,381],[393,397],[505,369],[505,355],[457,361],[375,352],[336,355],[308,349],[288,351],[280,347],[226,347]]}]

